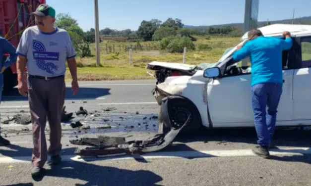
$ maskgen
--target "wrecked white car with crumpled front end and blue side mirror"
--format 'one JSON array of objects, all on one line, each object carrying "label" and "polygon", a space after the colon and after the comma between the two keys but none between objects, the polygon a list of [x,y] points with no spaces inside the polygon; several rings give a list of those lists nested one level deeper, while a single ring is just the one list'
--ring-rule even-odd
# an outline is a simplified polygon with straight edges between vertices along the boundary
[{"label": "wrecked white car with crumpled front end and blue side mirror", "polygon": [[[289,31],[294,41],[291,49],[283,51],[284,85],[276,125],[311,125],[311,25],[274,24],[259,30],[264,36],[279,38],[283,37],[283,31]],[[248,41],[247,34],[241,44]],[[158,103],[168,96],[178,100],[168,110],[171,122],[183,124],[191,114],[184,133],[195,132],[202,125],[207,128],[254,126],[251,69],[233,60],[236,48],[227,49],[213,64],[156,61],[148,64],[147,68],[155,70],[158,80],[153,91]]]}]

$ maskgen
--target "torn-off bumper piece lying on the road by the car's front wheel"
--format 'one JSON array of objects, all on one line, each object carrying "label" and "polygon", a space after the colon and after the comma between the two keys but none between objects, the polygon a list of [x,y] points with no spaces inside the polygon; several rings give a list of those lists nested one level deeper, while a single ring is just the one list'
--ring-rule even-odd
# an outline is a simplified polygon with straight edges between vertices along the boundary
[{"label": "torn-off bumper piece lying on the road by the car's front wheel", "polygon": [[159,132],[159,134],[155,135],[151,139],[132,140],[127,142],[125,141],[125,138],[106,136],[99,136],[98,138],[73,139],[70,140],[71,144],[91,146],[82,149],[77,148],[75,154],[80,155],[81,157],[105,157],[124,154],[143,154],[165,148],[173,142],[190,118],[189,115],[187,121],[182,126],[177,127],[174,126],[174,124],[172,125],[167,110],[169,102],[169,97],[163,99],[161,104],[161,117],[159,118],[159,125],[162,128],[166,128],[166,126],[172,127],[165,130],[163,129],[163,132]]}]

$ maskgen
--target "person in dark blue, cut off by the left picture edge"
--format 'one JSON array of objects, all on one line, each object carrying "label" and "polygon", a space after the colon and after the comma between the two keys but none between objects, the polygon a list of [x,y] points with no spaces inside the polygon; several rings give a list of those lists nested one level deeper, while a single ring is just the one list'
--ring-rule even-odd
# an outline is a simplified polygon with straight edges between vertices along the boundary
[{"label": "person in dark blue, cut off by the left picture edge", "polygon": [[[15,54],[16,48],[13,47],[6,39],[0,37],[0,102],[3,90],[3,72],[6,68],[16,62],[17,55]],[[3,55],[9,54],[9,56],[5,59]],[[2,58],[3,56],[3,58]],[[1,133],[1,131],[0,131]],[[0,146],[8,145],[10,141],[4,139],[0,136]]]}]

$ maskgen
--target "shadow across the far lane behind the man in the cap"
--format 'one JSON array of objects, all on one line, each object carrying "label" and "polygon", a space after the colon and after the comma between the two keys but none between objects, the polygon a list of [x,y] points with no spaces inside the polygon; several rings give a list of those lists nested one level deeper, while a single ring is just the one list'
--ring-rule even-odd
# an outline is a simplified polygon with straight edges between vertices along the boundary
[{"label": "shadow across the far lane behind the man in the cap", "polygon": [[[71,88],[66,88],[65,99],[96,99],[105,95],[110,95],[110,89],[103,88],[85,88],[80,87],[79,92],[76,95],[72,95]],[[18,89],[14,88],[10,91],[3,91],[2,101],[20,101],[28,100],[28,97],[24,97],[18,93]]]}]

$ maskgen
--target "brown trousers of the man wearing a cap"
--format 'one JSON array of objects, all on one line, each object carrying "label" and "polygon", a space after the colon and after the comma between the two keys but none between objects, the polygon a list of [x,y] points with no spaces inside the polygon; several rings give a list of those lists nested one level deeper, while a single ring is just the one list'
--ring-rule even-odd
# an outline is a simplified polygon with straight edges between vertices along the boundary
[{"label": "brown trousers of the man wearing a cap", "polygon": [[[32,118],[34,149],[32,163],[43,167],[50,156],[59,155],[62,150],[61,113],[65,96],[64,77],[51,80],[27,78],[29,107]],[[50,148],[47,150],[45,127],[50,125]]]}]

